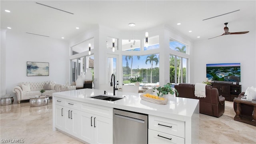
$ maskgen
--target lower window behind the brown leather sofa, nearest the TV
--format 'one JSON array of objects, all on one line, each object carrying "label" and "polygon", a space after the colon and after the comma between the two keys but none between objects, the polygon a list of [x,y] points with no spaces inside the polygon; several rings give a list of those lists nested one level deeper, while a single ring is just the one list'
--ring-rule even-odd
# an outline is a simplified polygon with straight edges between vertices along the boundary
[{"label": "lower window behind the brown leather sofa, nearest the TV", "polygon": [[170,83],[187,82],[187,58],[170,54]]}]

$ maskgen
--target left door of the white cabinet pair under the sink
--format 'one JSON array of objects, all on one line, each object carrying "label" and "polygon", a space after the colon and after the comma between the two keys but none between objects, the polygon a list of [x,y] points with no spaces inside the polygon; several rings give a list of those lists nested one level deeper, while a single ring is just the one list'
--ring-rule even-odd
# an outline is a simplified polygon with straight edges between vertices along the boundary
[{"label": "left door of the white cabinet pair under the sink", "polygon": [[80,139],[90,144],[94,143],[94,116],[87,112],[81,113],[81,136]]}]

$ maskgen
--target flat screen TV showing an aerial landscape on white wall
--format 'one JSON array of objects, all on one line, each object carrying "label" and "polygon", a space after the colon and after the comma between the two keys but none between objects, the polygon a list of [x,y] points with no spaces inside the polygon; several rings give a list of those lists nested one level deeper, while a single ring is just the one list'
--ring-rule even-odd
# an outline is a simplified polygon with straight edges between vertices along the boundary
[{"label": "flat screen TV showing an aerial landscape on white wall", "polygon": [[213,81],[241,82],[240,63],[206,64],[206,78]]}]

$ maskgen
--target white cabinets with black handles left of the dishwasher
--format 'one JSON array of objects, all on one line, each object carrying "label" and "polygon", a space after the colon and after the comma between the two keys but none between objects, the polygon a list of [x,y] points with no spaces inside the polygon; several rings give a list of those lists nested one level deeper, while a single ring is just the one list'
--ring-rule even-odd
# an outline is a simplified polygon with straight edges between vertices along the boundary
[{"label": "white cabinets with black handles left of the dishwasher", "polygon": [[55,97],[55,128],[90,144],[113,143],[113,108]]}]

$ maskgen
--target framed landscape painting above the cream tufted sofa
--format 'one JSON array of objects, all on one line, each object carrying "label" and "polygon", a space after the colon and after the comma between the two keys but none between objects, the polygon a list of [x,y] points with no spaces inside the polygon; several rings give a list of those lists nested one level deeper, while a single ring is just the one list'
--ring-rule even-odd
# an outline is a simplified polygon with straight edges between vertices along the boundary
[{"label": "framed landscape painting above the cream tufted sofa", "polygon": [[49,76],[49,62],[27,62],[27,76]]}]

